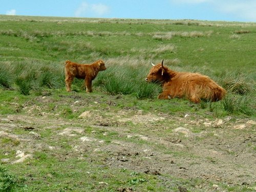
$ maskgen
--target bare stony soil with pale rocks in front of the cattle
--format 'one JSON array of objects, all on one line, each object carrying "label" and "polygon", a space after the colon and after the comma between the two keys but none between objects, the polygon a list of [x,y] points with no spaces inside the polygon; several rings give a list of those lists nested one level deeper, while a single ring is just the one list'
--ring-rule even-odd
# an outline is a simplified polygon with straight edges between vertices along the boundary
[{"label": "bare stony soil with pale rocks in front of the cattle", "polygon": [[[47,97],[40,99],[47,103]],[[79,109],[81,102],[74,98],[73,111]],[[94,101],[92,105],[98,103]],[[23,113],[1,115],[0,139],[12,142],[1,144],[0,161],[23,163],[33,159],[35,151],[55,153],[63,160],[69,156],[82,159],[82,154],[90,152],[92,161],[100,158],[109,167],[156,175],[165,186],[172,185],[164,177],[170,174],[209,181],[211,190],[220,189],[218,183],[256,190],[254,120],[232,116],[209,120],[195,114],[175,116],[133,108],[106,110],[102,115],[99,110],[86,110],[69,120],[50,113],[44,105],[30,103],[22,107]],[[116,136],[112,137],[112,133]],[[73,138],[69,139],[69,153],[63,154],[61,143],[46,142],[56,143],[61,138]],[[205,187],[195,186],[202,191]]]}]

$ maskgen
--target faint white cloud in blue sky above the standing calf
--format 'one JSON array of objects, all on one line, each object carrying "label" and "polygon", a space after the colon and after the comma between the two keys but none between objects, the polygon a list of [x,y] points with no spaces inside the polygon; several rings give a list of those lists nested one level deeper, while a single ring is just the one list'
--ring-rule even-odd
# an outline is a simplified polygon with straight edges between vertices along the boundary
[{"label": "faint white cloud in blue sky above the standing calf", "polygon": [[81,16],[102,16],[110,11],[110,8],[106,5],[103,5],[101,3],[99,4],[87,4],[86,2],[83,2],[80,7],[77,8],[75,11],[76,17]]}]

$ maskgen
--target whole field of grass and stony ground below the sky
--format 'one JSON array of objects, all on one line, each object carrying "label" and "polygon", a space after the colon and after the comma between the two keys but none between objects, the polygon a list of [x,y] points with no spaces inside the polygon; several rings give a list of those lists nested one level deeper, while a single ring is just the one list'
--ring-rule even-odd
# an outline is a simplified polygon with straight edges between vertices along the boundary
[{"label": "whole field of grass and stony ground below the sky", "polygon": [[[256,190],[255,39],[256,23],[0,15],[0,191]],[[97,59],[93,93],[66,92],[65,61]],[[162,59],[226,98],[158,100]]]}]

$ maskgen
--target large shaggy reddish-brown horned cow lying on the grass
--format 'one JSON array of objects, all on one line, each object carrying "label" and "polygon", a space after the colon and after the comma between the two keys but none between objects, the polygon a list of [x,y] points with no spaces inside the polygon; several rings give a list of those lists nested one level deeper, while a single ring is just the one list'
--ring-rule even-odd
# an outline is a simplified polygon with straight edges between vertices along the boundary
[{"label": "large shaggy reddish-brown horned cow lying on the grass", "polygon": [[176,72],[158,63],[147,75],[147,82],[158,81],[162,84],[163,92],[159,99],[174,97],[186,97],[190,101],[198,103],[201,99],[207,101],[219,101],[226,95],[226,90],[215,81],[199,73]]}]

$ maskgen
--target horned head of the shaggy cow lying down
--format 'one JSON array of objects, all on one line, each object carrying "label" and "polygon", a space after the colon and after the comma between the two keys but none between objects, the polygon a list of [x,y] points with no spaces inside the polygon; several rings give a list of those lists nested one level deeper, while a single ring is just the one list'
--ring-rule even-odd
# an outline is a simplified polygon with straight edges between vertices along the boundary
[{"label": "horned head of the shaggy cow lying down", "polygon": [[162,63],[158,63],[157,65],[154,65],[151,63],[153,68],[150,70],[150,73],[148,73],[146,77],[147,82],[163,82],[165,81],[165,71],[166,67],[163,66],[163,60]]}]

